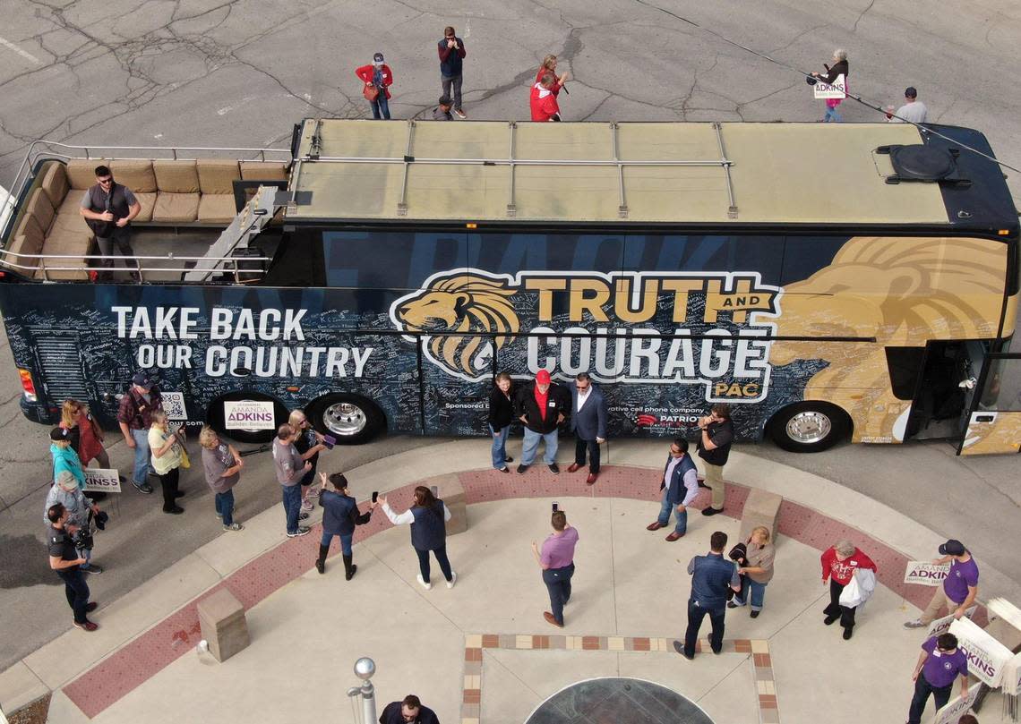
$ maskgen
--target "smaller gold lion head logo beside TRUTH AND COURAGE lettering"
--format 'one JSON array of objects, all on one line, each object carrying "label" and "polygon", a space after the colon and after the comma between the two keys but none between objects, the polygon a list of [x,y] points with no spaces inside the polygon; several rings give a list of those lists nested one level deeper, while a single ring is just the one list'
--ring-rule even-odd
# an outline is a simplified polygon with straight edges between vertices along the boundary
[{"label": "smaller gold lion head logo beside TRUTH AND COURAGE lettering", "polygon": [[495,338],[449,335],[449,332],[516,332],[518,314],[509,298],[517,290],[505,283],[473,274],[456,274],[434,281],[428,291],[397,309],[404,330],[440,334],[429,341],[433,358],[468,376],[475,376],[473,362],[485,351],[490,339],[499,350],[505,335]]}]

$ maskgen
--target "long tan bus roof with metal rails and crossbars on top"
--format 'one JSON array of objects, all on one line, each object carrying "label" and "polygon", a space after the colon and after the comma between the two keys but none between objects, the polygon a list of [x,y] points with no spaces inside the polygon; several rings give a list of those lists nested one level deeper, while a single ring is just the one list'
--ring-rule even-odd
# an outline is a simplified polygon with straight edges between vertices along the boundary
[{"label": "long tan bus roof with metal rails and crossbars on top", "polygon": [[886,183],[878,147],[931,142],[903,123],[306,119],[300,133],[293,220],[978,221],[955,212],[944,185]]}]

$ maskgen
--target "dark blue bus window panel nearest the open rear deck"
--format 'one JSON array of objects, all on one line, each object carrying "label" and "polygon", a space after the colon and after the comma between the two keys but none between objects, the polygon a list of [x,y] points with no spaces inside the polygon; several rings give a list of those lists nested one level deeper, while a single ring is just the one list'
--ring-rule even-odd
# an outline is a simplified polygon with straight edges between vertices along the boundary
[{"label": "dark blue bus window panel nearest the open rear deck", "polygon": [[415,290],[467,262],[467,238],[458,232],[324,231],[323,247],[330,287]]}]

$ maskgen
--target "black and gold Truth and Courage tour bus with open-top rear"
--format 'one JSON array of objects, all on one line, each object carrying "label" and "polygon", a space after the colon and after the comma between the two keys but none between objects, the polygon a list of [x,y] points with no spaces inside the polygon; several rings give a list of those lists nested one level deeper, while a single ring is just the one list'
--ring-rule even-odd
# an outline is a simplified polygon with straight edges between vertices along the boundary
[{"label": "black and gold Truth and Courage tour bus with open-top rear", "polygon": [[[1018,452],[1017,210],[982,134],[929,128],[309,118],[283,152],[37,142],[0,259],[21,407],[54,423],[74,397],[113,425],[145,369],[173,419],[241,441],[297,407],[341,443],[471,435],[497,372],[547,369],[591,375],[612,436],[693,437],[725,402],[739,438],[791,451]],[[142,206],[112,271],[78,211],[100,163]]]}]

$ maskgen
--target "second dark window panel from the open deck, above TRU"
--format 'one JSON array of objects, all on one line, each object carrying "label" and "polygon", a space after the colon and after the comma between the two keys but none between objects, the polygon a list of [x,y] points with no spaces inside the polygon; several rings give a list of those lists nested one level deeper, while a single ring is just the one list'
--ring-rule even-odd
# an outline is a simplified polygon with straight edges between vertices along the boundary
[{"label": "second dark window panel from the open deck, above TRU", "polygon": [[624,235],[472,234],[468,266],[497,274],[523,269],[620,271]]}]

